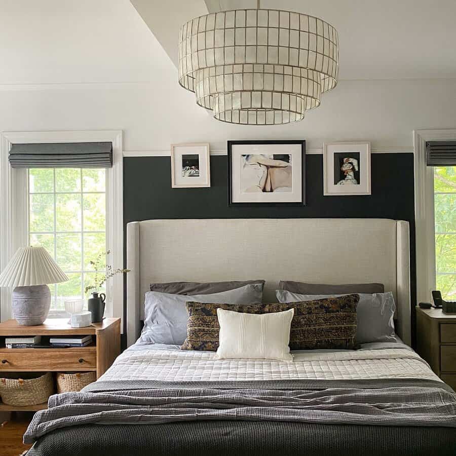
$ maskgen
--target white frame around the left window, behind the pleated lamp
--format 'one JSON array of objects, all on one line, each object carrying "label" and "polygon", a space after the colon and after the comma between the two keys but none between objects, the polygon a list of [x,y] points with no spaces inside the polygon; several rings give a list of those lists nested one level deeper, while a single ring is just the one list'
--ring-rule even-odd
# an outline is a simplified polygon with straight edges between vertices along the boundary
[{"label": "white frame around the left window, behind the pleated lamp", "polygon": [[[28,185],[25,169],[11,168],[8,153],[15,143],[112,142],[112,168],[106,170],[106,247],[113,267],[123,268],[123,155],[122,130],[3,132],[0,135],[0,270],[19,248],[28,244]],[[11,288],[0,288],[0,318],[11,315]],[[122,275],[106,283],[107,317],[121,317],[124,308]],[[123,325],[121,324],[121,328]]]}]

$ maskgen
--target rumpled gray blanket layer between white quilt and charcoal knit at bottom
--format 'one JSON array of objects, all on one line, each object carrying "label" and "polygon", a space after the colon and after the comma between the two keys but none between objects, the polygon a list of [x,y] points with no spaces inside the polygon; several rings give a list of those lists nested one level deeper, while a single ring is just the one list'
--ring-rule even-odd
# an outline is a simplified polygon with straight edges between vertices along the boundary
[{"label": "rumpled gray blanket layer between white quilt and charcoal knit at bottom", "polygon": [[453,428],[456,438],[456,394],[413,380],[96,382],[51,396],[24,442],[75,426],[103,425],[99,432],[109,433],[111,425],[213,421]]}]

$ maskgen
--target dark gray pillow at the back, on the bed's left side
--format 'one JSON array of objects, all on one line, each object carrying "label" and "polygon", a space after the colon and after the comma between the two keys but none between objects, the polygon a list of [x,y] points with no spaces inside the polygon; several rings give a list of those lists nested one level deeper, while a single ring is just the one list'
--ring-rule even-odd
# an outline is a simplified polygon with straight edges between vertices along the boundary
[{"label": "dark gray pillow at the back, on the bed's left side", "polygon": [[166,282],[151,283],[150,291],[159,291],[160,293],[184,294],[187,296],[194,294],[212,294],[221,293],[222,291],[234,290],[246,285],[260,284],[261,291],[264,286],[264,280],[244,280],[229,282]]}]

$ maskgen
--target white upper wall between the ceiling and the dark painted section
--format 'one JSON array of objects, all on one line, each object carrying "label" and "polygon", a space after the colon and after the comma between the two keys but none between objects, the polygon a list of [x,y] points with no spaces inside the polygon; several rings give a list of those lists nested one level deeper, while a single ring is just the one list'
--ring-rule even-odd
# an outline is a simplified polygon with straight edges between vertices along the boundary
[{"label": "white upper wall between the ceiling and the dark painted section", "polygon": [[0,90],[0,130],[124,130],[125,150],[167,150],[172,142],[227,139],[368,139],[408,147],[412,130],[456,126],[456,80],[342,81],[297,124],[245,127],[213,120],[176,82],[174,67],[156,84]]}]

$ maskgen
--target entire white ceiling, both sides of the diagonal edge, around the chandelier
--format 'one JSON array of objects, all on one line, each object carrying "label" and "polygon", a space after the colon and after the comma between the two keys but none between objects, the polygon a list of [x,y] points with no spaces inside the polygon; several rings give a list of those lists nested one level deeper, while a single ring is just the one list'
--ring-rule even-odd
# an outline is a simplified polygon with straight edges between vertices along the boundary
[{"label": "entire white ceiling, both sides of the diagonal edge, around the chandelier", "polygon": [[[0,0],[0,86],[177,80],[172,62],[184,21],[220,7],[255,5]],[[341,80],[456,78],[455,0],[261,0],[261,7],[306,12],[334,25]]]}]

